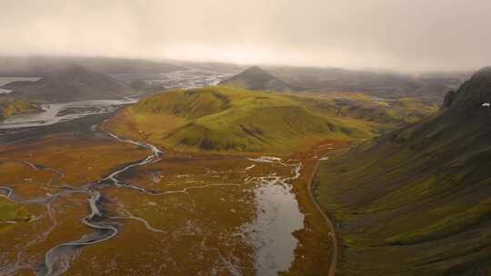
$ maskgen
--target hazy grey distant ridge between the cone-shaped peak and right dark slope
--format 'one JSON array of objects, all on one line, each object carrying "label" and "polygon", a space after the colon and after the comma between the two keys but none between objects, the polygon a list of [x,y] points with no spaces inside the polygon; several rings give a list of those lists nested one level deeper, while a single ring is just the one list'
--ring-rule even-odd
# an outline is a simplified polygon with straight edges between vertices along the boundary
[{"label": "hazy grey distant ridge between the cone-shaped peak and right dark slope", "polygon": [[451,87],[463,83],[467,74],[397,74],[395,72],[346,70],[340,68],[266,67],[287,84],[304,91],[364,92],[379,97],[416,97],[441,103]]}]

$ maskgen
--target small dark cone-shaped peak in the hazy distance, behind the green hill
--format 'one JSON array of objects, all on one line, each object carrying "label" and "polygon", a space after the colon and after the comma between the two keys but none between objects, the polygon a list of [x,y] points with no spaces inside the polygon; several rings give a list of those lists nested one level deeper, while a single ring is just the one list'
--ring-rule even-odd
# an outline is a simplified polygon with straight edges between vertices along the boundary
[{"label": "small dark cone-shaped peak in the hazy distance, behind the green hill", "polygon": [[292,86],[263,69],[253,66],[246,71],[223,81],[220,85],[228,85],[240,89],[258,91],[291,91]]}]

